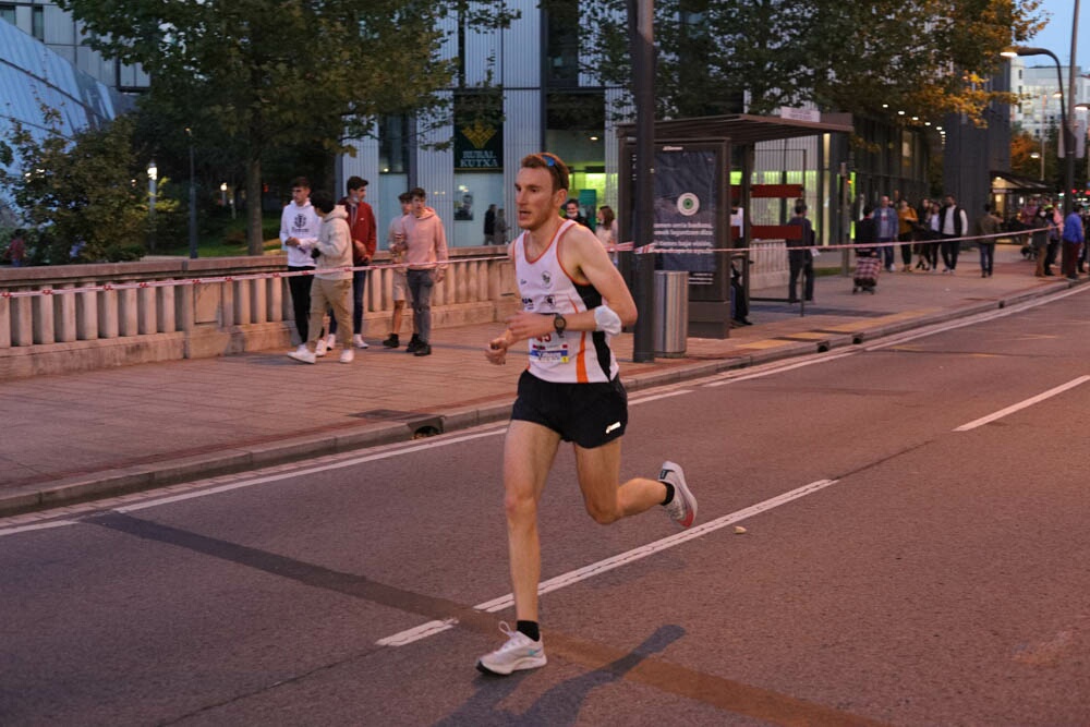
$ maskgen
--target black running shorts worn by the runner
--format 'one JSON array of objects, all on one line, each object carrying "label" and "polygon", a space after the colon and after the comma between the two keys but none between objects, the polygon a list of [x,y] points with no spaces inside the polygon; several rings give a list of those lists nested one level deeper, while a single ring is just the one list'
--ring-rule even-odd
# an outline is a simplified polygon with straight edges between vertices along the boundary
[{"label": "black running shorts worn by the runner", "polygon": [[541,424],[565,441],[593,449],[625,434],[628,393],[620,377],[602,384],[555,384],[525,371],[511,419]]}]

